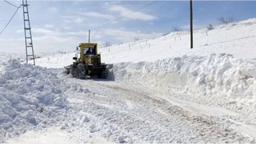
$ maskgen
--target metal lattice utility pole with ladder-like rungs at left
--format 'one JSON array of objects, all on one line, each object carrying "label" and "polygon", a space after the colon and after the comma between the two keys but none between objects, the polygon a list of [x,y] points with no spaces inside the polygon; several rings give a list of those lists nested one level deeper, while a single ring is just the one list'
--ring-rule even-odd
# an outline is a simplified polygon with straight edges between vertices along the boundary
[{"label": "metal lattice utility pole with ladder-like rungs at left", "polygon": [[[34,48],[32,42],[32,34],[30,27],[30,15],[28,14],[27,0],[23,0],[23,20],[24,20],[24,31],[25,31],[25,47],[26,47],[26,59],[28,61],[28,57],[31,57],[34,61]],[[35,66],[34,62],[34,66]]]}]

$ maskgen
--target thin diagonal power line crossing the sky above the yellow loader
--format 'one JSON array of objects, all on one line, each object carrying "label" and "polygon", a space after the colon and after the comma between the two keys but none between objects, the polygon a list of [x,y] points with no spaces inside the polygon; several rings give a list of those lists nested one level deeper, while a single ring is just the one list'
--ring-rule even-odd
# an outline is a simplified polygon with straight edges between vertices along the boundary
[{"label": "thin diagonal power line crossing the sky above the yellow loader", "polygon": [[[117,22],[119,20],[122,20],[122,18],[124,17],[127,17],[128,15],[132,15],[132,13],[135,13],[136,11],[139,11],[143,8],[146,8],[147,6],[151,6],[153,3],[156,3],[157,1],[152,1],[151,3],[148,3],[140,8],[137,8],[136,10],[133,10],[131,13],[127,13],[126,15],[123,15],[122,17],[117,17],[117,19],[113,20],[113,21],[110,21],[110,22],[106,22],[105,24],[102,24],[101,26],[98,26],[98,27],[95,27],[94,30],[96,29],[99,29],[101,27],[104,27],[105,25],[108,25],[108,24],[112,24],[113,22]],[[79,36],[79,38],[81,38],[82,36]],[[65,41],[64,43],[60,43],[59,45],[56,45],[56,47],[59,47],[61,45],[64,45],[65,43],[68,43],[70,41],[74,41],[75,39],[78,39],[78,38],[71,38],[69,41]]]}]

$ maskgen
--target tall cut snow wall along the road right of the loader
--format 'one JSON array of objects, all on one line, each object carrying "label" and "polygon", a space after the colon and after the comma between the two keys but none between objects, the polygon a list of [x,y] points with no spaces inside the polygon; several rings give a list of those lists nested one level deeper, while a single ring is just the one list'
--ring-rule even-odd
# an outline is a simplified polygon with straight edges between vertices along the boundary
[{"label": "tall cut snow wall along the road right of the loader", "polygon": [[[127,80],[158,89],[181,89],[211,103],[233,105],[246,113],[256,111],[256,59],[232,55],[183,56],[115,64],[115,80]],[[198,100],[197,100],[198,101]]]}]

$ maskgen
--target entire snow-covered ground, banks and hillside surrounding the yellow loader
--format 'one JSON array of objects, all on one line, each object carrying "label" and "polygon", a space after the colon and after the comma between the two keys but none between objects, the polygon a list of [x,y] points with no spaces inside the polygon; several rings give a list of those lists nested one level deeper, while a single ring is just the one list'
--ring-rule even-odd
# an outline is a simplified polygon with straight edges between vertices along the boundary
[{"label": "entire snow-covered ground, banks and hillside surrounding the yellow loader", "polygon": [[192,50],[187,31],[101,48],[108,80],[65,75],[74,52],[36,67],[3,54],[0,143],[255,143],[255,29],[199,29]]}]

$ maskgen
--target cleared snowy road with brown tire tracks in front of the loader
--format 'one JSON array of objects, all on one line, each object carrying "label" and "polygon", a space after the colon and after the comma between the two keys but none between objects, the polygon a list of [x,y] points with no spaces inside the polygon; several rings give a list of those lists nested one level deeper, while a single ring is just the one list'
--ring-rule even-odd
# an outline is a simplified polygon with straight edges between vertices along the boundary
[{"label": "cleared snowy road with brown tire tracks in front of the loader", "polygon": [[[256,129],[243,125],[240,113],[191,102],[176,88],[165,92],[108,80],[66,82],[73,90],[66,92],[72,110],[65,122],[10,143],[34,143],[32,136],[37,143],[255,143]],[[41,136],[47,138],[38,141]]]}]

